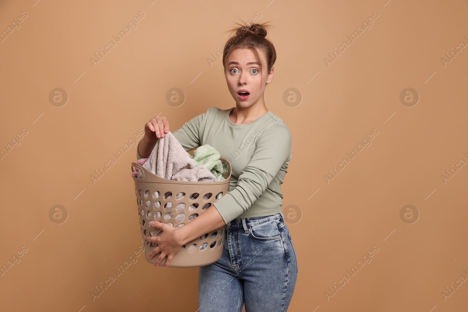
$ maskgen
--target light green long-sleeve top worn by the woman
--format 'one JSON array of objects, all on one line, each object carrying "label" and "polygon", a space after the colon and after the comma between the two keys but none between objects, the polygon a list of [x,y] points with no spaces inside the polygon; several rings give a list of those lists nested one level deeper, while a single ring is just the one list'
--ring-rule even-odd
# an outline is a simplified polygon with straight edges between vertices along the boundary
[{"label": "light green long-sleeve top worn by the woman", "polygon": [[280,184],[291,159],[291,132],[281,118],[268,111],[236,124],[229,119],[233,109],[209,108],[171,131],[185,151],[209,144],[231,163],[229,192],[213,203],[225,223],[280,213]]}]

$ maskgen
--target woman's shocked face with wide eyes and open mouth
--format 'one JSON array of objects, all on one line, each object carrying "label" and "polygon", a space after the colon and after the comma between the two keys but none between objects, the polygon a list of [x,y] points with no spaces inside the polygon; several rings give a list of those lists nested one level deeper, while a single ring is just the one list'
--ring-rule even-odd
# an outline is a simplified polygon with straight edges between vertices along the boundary
[{"label": "woman's shocked face with wide eyes and open mouth", "polygon": [[[237,105],[244,108],[259,100],[263,102],[265,85],[273,79],[273,68],[270,74],[266,73],[266,59],[263,50],[257,49],[257,51],[262,67],[257,63],[254,52],[245,48],[232,51],[226,62],[227,87]],[[241,91],[246,91],[249,94],[239,94]]]}]

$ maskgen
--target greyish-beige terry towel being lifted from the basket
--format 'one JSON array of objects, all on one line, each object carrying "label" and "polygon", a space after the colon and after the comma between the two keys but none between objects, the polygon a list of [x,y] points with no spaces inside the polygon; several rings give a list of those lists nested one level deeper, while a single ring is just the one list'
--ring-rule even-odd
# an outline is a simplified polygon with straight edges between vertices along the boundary
[{"label": "greyish-beige terry towel being lifted from the basket", "polygon": [[[177,181],[216,182],[216,176],[204,166],[195,166],[190,154],[168,131],[159,138],[143,167],[161,178]],[[141,177],[141,173],[138,175]]]}]

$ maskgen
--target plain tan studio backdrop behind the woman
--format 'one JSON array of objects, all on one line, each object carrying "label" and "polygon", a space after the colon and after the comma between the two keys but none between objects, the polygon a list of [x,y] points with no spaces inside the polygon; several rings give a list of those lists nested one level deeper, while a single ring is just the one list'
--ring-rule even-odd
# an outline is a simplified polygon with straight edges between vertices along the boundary
[{"label": "plain tan studio backdrop behind the woman", "polygon": [[[276,27],[265,101],[292,132],[283,212],[299,275],[288,311],[466,311],[468,282],[441,294],[468,278],[468,166],[441,178],[468,161],[467,48],[441,61],[468,44],[466,2],[35,1],[0,3],[2,32],[27,14],[0,43],[0,148],[27,131],[0,160],[0,265],[27,250],[0,277],[1,311],[197,310],[198,268],[154,268],[141,255],[93,301],[95,287],[141,245],[136,147],[118,160],[112,153],[160,113],[174,131],[209,107],[234,107],[221,60],[210,67],[207,58],[233,22],[256,12]],[[138,27],[93,66],[139,12]],[[327,66],[373,12],[371,28]],[[57,87],[69,97],[61,107],[49,101]],[[185,94],[179,107],[166,102],[173,87]],[[408,87],[420,97],[412,107],[400,101]],[[289,88],[299,93],[285,103]],[[350,160],[373,129],[372,145]],[[110,158],[116,163],[93,184]],[[400,217],[408,204],[416,222]],[[64,223],[52,222],[54,205],[65,207]],[[346,270],[374,246],[351,276]],[[331,293],[344,275],[349,281]]]}]

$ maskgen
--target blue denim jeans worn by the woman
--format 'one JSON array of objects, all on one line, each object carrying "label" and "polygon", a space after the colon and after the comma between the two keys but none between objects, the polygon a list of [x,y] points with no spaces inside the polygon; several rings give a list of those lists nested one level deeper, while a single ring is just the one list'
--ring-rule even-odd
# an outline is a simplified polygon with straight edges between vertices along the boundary
[{"label": "blue denim jeans worn by the woman", "polygon": [[285,312],[296,285],[297,258],[283,213],[234,219],[223,254],[199,268],[198,312]]}]

